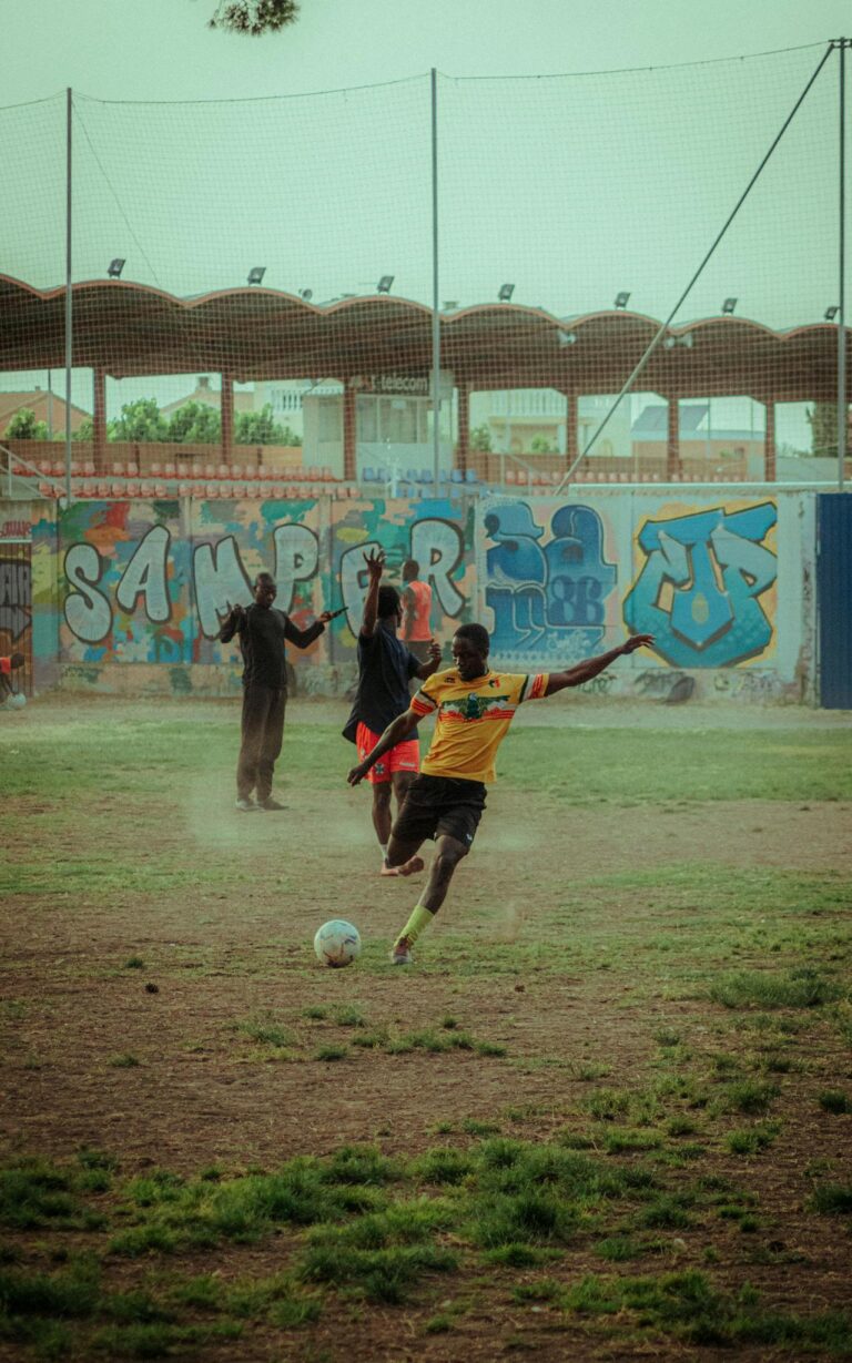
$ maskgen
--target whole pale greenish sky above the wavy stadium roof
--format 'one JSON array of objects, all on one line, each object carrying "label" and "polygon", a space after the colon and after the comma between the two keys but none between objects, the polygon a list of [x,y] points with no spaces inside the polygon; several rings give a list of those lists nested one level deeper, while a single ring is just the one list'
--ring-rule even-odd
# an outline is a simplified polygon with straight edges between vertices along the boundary
[{"label": "whole pale greenish sky above the wavy stadium roof", "polygon": [[[252,40],[210,31],[214,4],[0,0],[0,273],[63,281],[72,86],[75,278],[121,255],[124,278],[189,294],[263,263],[267,286],[314,301],[393,273],[428,303],[436,67],[442,300],[513,281],[515,303],[567,316],[624,288],[661,318],[852,30],[847,0],[303,0],[296,26]],[[777,55],[708,65],[758,53]],[[649,71],[679,63],[703,64]],[[836,301],[836,65],[676,320],[727,294],[776,327]]]}]

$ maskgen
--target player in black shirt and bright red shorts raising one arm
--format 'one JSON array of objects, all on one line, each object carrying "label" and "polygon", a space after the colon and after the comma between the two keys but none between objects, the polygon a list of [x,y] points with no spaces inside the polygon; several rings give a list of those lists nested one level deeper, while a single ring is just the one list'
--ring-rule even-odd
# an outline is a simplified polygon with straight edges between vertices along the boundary
[{"label": "player in black shirt and bright red shorts raising one arm", "polygon": [[[397,716],[409,707],[409,680],[431,677],[440,665],[440,645],[429,639],[427,661],[421,662],[408,645],[397,638],[402,624],[402,598],[395,587],[380,586],[384,553],[364,555],[369,587],[359,632],[359,688],[346,721],[344,737],[354,743],[363,761]],[[382,875],[398,875],[387,864],[390,838],[391,791],[397,812],[402,808],[409,786],[420,769],[420,746],[413,729],[386,752],[371,769],[372,826],[382,848]]]}]

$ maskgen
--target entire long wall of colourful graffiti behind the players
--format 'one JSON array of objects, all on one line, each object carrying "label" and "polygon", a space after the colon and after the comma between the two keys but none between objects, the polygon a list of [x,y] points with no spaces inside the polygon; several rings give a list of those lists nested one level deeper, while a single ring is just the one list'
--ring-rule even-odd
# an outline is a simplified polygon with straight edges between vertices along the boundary
[{"label": "entire long wall of colourful graffiti behind the players", "polygon": [[232,692],[239,654],[219,624],[267,570],[299,626],[344,608],[308,650],[290,650],[297,690],[341,694],[356,672],[364,553],[380,548],[390,582],[405,559],[420,563],[438,639],[481,620],[500,667],[570,667],[648,632],[653,650],[590,690],[808,699],[811,495],[574,497],[80,502],[33,530],[37,675]]}]

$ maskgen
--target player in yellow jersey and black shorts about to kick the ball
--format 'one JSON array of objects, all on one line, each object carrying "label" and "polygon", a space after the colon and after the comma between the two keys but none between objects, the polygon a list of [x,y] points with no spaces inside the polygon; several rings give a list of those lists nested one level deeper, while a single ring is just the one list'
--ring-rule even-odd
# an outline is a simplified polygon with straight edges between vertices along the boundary
[{"label": "player in yellow jersey and black shorts about to kick the ball", "polygon": [[433,838],[436,856],[420,901],[394,942],[391,961],[410,965],[412,946],[444,902],[450,880],[468,856],[485,808],[485,785],[493,781],[493,759],[508,732],[515,710],[568,686],[582,686],[616,658],[653,643],[650,634],[633,634],[618,649],[586,658],[564,672],[529,676],[493,672],[488,667],[488,631],[481,624],[462,624],[453,639],[454,665],[435,672],[413,696],[405,714],[387,726],[372,752],[352,767],[348,781],[357,785],[374,762],[410,733],[427,714],[435,714],[435,733],[409,786],[408,797],[391,829],[387,863],[399,875],[423,871],[417,856],[425,838]]}]

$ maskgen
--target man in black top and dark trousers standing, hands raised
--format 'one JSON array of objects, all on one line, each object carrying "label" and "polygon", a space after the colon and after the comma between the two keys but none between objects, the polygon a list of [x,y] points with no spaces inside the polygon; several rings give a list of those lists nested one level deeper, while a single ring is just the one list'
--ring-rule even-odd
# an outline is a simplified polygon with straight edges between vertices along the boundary
[{"label": "man in black top and dark trousers standing, hands raised", "polygon": [[[234,605],[219,630],[222,643],[240,635],[243,654],[243,741],[237,763],[237,810],[284,810],[273,799],[273,771],[284,737],[286,705],[285,639],[297,649],[307,649],[324,631],[331,619],[327,611],[297,630],[293,622],[275,611],[275,583],[269,572],[259,572],[254,585],[254,604]],[[258,803],[252,799],[256,792]]]}]

